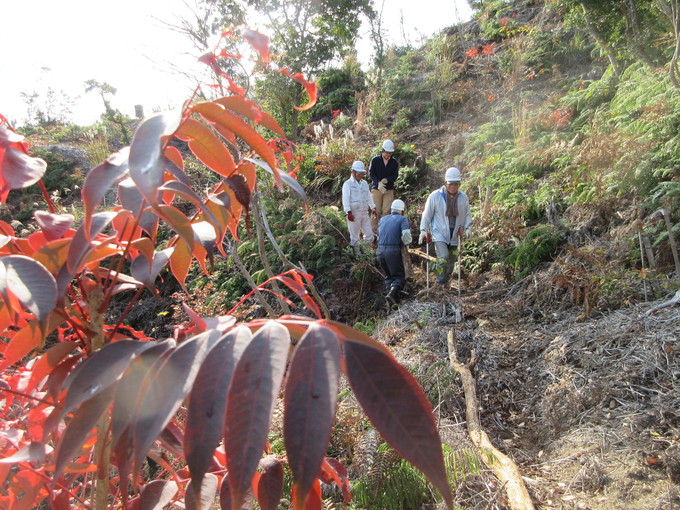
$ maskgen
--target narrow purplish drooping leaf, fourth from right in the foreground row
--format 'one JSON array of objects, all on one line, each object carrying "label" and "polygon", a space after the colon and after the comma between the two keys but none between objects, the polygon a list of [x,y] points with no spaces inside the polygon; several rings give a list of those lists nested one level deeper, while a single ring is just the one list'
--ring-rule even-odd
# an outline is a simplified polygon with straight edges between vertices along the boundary
[{"label": "narrow purplish drooping leaf, fourth from right in the foreground row", "polygon": [[200,486],[222,437],[234,367],[251,338],[245,326],[220,338],[198,371],[189,394],[184,452],[194,489]]}]

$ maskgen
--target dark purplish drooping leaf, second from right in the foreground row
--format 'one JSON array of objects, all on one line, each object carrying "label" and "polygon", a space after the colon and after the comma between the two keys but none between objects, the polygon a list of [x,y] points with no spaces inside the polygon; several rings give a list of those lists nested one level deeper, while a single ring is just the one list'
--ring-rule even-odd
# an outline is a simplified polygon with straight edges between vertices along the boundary
[{"label": "dark purplish drooping leaf, second from right in the foreground row", "polygon": [[295,347],[286,381],[283,435],[301,508],[328,449],[340,380],[336,334],[311,325]]}]

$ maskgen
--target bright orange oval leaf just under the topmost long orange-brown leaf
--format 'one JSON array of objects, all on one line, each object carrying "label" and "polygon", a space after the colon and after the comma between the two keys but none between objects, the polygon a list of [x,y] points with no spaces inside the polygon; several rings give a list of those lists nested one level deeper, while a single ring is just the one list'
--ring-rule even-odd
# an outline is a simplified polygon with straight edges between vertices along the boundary
[{"label": "bright orange oval leaf just under the topmost long orange-brown leaf", "polygon": [[234,173],[236,165],[231,152],[205,124],[195,119],[186,119],[175,136],[189,142],[191,152],[211,170],[224,177]]}]

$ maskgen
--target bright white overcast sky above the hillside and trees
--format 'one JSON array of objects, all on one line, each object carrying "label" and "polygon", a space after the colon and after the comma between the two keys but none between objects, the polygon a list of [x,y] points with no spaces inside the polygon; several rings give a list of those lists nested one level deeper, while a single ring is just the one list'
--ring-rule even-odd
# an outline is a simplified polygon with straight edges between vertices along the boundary
[{"label": "bright white overcast sky above the hillside and trees", "polygon": [[[466,0],[374,0],[383,7],[386,40],[416,44],[424,36],[470,17]],[[70,120],[95,122],[104,107],[95,93],[85,94],[84,82],[94,79],[117,89],[114,107],[134,116],[180,105],[194,82],[176,68],[198,76],[205,66],[184,36],[168,28],[189,17],[193,0],[24,0],[4,2],[0,29],[0,114],[15,126],[26,119],[21,92],[46,96],[48,88],[75,100]],[[403,30],[402,30],[403,20]],[[166,22],[166,23],[163,23]],[[260,28],[260,27],[253,27]],[[264,29],[261,31],[265,32]],[[404,40],[406,35],[406,40]],[[371,54],[368,29],[359,58]]]}]

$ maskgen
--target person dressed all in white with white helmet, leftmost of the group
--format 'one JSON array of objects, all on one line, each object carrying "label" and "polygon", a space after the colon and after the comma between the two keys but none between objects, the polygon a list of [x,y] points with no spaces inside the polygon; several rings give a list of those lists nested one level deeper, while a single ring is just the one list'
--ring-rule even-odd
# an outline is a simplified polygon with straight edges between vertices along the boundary
[{"label": "person dressed all in white with white helmet, leftmost of the group", "polygon": [[352,163],[352,176],[342,185],[342,208],[347,217],[347,228],[349,230],[349,245],[356,255],[361,253],[359,236],[364,233],[364,241],[373,242],[373,228],[371,217],[375,216],[375,203],[368,189],[368,183],[364,181],[366,167],[363,162],[355,161]]}]

